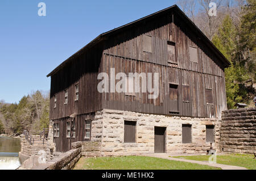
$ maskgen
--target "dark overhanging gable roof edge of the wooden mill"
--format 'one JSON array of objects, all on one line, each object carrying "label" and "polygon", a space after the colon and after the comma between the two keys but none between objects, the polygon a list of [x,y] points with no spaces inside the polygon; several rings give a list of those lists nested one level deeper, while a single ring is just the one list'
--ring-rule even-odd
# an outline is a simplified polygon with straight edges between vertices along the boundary
[{"label": "dark overhanging gable roof edge of the wooden mill", "polygon": [[63,68],[63,66],[65,64],[67,64],[69,61],[71,61],[73,58],[75,58],[76,56],[78,56],[80,53],[82,53],[85,49],[88,49],[89,47],[92,47],[96,44],[98,44],[100,41],[103,41],[105,40],[106,37],[110,36],[110,35],[113,35],[114,33],[118,33],[120,31],[124,31],[126,30],[127,28],[130,28],[132,26],[135,26],[139,23],[141,23],[143,20],[148,20],[150,18],[155,18],[155,16],[158,16],[158,15],[162,15],[162,14],[166,14],[168,11],[176,11],[180,16],[181,18],[183,18],[183,20],[187,23],[188,26],[192,27],[193,30],[201,37],[201,39],[204,41],[204,43],[206,43],[210,49],[212,49],[218,58],[220,58],[221,62],[223,63],[223,65],[225,66],[225,68],[228,68],[228,66],[230,65],[230,62],[226,59],[226,57],[220,52],[220,50],[218,50],[212,43],[212,41],[210,41],[208,39],[207,36],[204,35],[204,33],[195,25],[195,23],[193,23],[187,15],[184,14],[183,11],[181,11],[179,9],[179,7],[177,5],[174,5],[174,6],[170,6],[170,7],[167,7],[166,9],[163,9],[163,10],[160,10],[158,12],[155,12],[151,15],[148,15],[148,16],[145,16],[141,19],[138,19],[138,20],[135,20],[134,22],[131,22],[131,23],[128,23],[128,24],[125,24],[121,27],[118,27],[118,28],[114,28],[113,30],[110,30],[108,32],[105,32],[105,33],[101,33],[100,35],[98,35],[95,39],[93,39],[92,41],[90,41],[90,43],[88,43],[87,45],[85,45],[85,47],[81,48],[80,50],[78,50],[75,54],[73,54],[71,57],[69,57],[67,60],[65,60],[63,63],[61,63],[59,66],[57,66],[57,68],[55,68],[54,70],[51,71],[51,73],[49,73],[47,75],[47,77],[57,73],[57,71],[59,71],[61,68]]}]

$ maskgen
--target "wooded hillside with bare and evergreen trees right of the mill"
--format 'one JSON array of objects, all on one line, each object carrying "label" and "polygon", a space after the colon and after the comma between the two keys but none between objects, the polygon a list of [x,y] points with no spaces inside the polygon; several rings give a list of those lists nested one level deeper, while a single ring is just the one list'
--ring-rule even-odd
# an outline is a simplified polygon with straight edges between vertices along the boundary
[{"label": "wooded hillside with bare and evergreen trees right of the mill", "polygon": [[[217,16],[208,14],[210,2],[216,3]],[[232,64],[225,69],[228,108],[254,106],[256,0],[179,0],[177,5]]]}]

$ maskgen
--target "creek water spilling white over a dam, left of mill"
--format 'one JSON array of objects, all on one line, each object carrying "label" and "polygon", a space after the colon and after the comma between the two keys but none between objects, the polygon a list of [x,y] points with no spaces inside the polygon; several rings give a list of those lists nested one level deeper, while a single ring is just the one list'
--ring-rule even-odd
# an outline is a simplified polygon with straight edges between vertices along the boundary
[{"label": "creek water spilling white over a dam, left of mill", "polygon": [[15,170],[20,166],[20,139],[0,136],[0,170]]}]

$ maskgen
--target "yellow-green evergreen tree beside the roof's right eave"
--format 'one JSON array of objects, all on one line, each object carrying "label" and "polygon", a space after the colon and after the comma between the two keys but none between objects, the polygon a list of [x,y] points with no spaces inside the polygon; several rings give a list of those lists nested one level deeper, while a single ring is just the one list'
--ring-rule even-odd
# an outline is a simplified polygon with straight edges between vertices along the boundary
[{"label": "yellow-green evergreen tree beside the roof's right eave", "polygon": [[213,44],[221,51],[222,54],[229,60],[231,66],[225,69],[226,83],[226,100],[228,108],[234,108],[237,102],[245,102],[248,99],[248,92],[245,88],[244,81],[249,76],[246,74],[244,66],[237,60],[238,33],[233,26],[232,19],[227,15],[218,32],[213,37]]}]

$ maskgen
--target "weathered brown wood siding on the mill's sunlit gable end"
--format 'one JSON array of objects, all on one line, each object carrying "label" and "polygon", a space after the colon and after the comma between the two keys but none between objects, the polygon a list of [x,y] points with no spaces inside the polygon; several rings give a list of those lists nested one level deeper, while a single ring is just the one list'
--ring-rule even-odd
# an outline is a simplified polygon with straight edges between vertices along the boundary
[{"label": "weathered brown wood siding on the mill's sunlit gable end", "polygon": [[[145,35],[151,36],[149,48],[143,47],[143,41],[148,43]],[[168,63],[167,41],[175,43],[177,64]],[[197,47],[197,62],[189,59],[190,46]],[[220,117],[221,111],[226,109],[224,66],[175,13],[159,16],[110,36],[105,43],[102,61],[102,70],[109,75],[110,68],[115,68],[115,74],[159,73],[160,84],[159,98],[154,100],[147,98],[148,93],[136,93],[136,96],[104,93],[103,108],[170,114],[169,83],[175,83],[179,85],[177,115]],[[183,101],[185,89],[189,91],[189,102]],[[212,90],[211,104],[205,99],[205,89]]]}]

